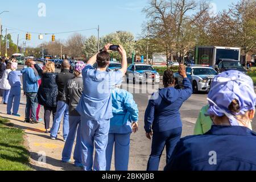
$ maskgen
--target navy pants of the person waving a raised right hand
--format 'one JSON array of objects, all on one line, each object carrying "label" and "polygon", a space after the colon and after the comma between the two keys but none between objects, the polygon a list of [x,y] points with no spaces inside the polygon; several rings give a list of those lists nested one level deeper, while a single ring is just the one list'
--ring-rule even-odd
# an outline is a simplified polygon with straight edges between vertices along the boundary
[{"label": "navy pants of the person waving a raised right hand", "polygon": [[155,132],[152,138],[151,155],[147,163],[147,171],[158,171],[160,158],[164,146],[166,146],[166,164],[168,164],[172,152],[179,142],[182,133],[182,127],[168,131]]}]

